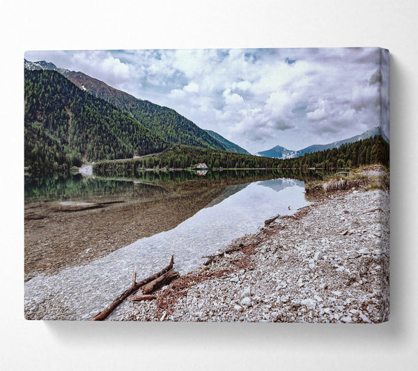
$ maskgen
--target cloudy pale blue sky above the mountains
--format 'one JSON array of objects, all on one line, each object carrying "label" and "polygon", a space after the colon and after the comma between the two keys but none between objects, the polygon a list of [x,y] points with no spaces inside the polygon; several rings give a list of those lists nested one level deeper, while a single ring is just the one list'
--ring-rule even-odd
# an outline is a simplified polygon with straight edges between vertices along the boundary
[{"label": "cloudy pale blue sky above the mountains", "polygon": [[389,53],[378,48],[26,52],[176,109],[251,153],[298,150],[381,125]]}]

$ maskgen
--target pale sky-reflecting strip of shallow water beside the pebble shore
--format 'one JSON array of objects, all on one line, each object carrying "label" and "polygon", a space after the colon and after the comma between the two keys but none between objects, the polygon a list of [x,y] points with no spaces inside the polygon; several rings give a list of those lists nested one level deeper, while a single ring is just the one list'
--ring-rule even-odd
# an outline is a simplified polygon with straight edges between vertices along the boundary
[{"label": "pale sky-reflecting strip of shallow water beside the pebble shore", "polygon": [[25,284],[26,317],[91,319],[130,287],[135,266],[139,281],[167,266],[173,254],[174,269],[187,273],[203,263],[203,255],[256,232],[264,220],[309,204],[304,198],[304,183],[294,179],[249,183],[219,199],[221,202],[214,200],[167,232],[140,239],[85,266],[29,280]]}]

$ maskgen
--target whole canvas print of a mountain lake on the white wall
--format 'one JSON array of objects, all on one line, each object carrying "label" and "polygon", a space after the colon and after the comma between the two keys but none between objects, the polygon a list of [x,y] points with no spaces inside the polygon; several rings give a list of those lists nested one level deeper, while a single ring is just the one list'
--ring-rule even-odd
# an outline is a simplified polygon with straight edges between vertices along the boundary
[{"label": "whole canvas print of a mountain lake on the white wall", "polygon": [[24,317],[389,319],[389,51],[24,54]]}]

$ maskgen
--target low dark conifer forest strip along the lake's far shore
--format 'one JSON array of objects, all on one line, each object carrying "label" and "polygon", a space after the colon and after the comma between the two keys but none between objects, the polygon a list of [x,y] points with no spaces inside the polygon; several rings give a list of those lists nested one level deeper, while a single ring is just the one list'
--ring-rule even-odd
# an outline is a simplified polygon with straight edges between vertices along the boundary
[{"label": "low dark conifer forest strip along the lake's far shore", "polygon": [[285,160],[177,145],[146,158],[98,162],[94,166],[94,172],[107,174],[111,171],[138,171],[153,167],[186,168],[194,167],[199,162],[205,162],[210,168],[307,169],[315,167],[326,171],[369,164],[382,164],[389,167],[389,144],[380,135],[376,135],[376,137],[352,144],[343,144],[339,149],[306,153],[302,157]]}]

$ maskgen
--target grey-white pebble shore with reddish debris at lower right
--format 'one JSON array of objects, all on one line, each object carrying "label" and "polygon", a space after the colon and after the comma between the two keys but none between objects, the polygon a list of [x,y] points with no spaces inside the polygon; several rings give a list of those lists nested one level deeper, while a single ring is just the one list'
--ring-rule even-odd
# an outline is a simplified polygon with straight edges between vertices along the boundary
[{"label": "grey-white pebble shore with reddish debris at lower right", "polygon": [[[279,216],[110,320],[389,319],[389,191],[343,190]],[[176,261],[176,257],[175,261]],[[204,260],[202,261],[204,262]],[[176,266],[174,266],[176,268]]]}]

